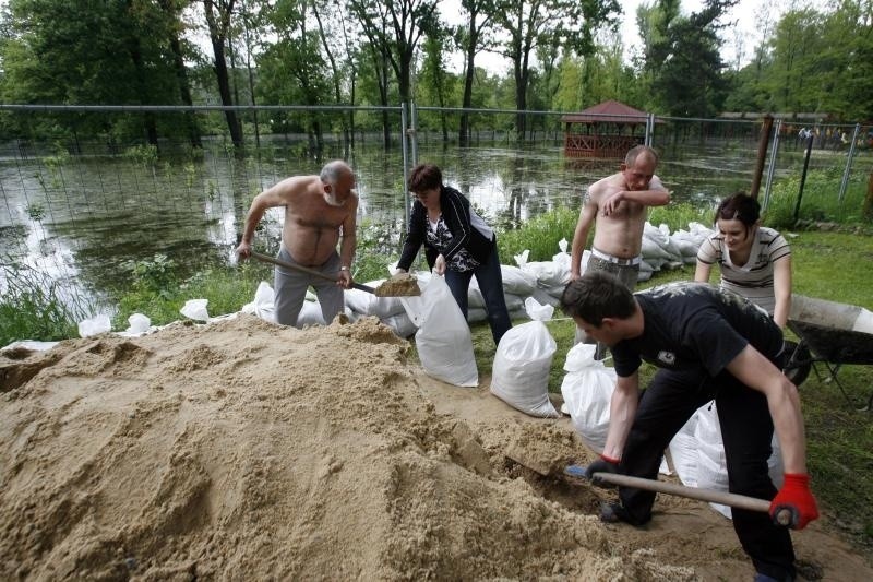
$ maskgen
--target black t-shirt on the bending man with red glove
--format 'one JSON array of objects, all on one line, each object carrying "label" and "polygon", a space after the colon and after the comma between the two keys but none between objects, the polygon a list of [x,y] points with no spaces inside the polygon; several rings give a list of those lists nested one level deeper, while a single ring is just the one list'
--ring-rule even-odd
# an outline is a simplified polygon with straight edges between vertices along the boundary
[{"label": "black t-shirt on the bending man with red glove", "polygon": [[782,332],[766,311],[707,283],[680,282],[636,293],[643,335],[612,351],[615,372],[631,376],[643,360],[659,368],[703,368],[710,377],[752,344],[772,361],[782,351]]}]

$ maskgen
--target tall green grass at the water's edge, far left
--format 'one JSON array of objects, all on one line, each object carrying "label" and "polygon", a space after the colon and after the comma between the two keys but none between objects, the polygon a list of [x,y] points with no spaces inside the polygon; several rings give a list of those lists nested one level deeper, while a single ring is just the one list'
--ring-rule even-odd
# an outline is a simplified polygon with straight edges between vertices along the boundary
[{"label": "tall green grass at the water's edge, far left", "polygon": [[58,281],[9,256],[0,259],[0,346],[75,337],[79,322],[91,314],[84,299],[64,296]]}]

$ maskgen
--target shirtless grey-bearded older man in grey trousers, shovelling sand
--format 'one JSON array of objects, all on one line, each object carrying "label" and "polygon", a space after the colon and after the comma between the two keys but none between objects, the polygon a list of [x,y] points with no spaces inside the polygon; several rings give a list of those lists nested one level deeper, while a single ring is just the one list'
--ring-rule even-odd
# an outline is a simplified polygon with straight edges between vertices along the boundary
[{"label": "shirtless grey-bearded older man in grey trousers, shovelling sand", "polygon": [[351,259],[356,247],[358,194],[354,188],[355,173],[348,164],[337,159],[325,164],[319,176],[286,178],[252,200],[237,254],[250,257],[254,229],[266,210],[285,206],[277,258],[337,277],[334,284],[276,266],[274,290],[278,323],[297,324],[310,285],[319,297],[324,321],[333,321],[343,310],[343,289],[351,286]]}]

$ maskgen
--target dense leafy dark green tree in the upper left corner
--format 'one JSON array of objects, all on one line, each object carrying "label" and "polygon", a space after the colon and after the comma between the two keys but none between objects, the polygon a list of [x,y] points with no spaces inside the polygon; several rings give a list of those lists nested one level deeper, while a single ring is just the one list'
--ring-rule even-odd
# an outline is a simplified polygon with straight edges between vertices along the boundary
[{"label": "dense leafy dark green tree in the upper left corner", "polygon": [[[11,103],[152,105],[178,103],[156,4],[12,0],[3,45],[2,97]],[[134,132],[157,142],[157,120],[141,116],[52,115],[52,124]]]}]

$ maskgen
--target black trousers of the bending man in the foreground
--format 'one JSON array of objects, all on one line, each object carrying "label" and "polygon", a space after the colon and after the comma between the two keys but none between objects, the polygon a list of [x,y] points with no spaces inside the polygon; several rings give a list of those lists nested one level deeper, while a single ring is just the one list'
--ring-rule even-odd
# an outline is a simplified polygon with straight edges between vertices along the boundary
[{"label": "black trousers of the bending man in the foreground", "polygon": [[[659,370],[643,392],[622,454],[620,471],[656,479],[663,450],[694,412],[715,399],[731,492],[770,500],[776,488],[767,472],[772,454],[773,419],[767,399],[727,372],[716,378],[704,370]],[[631,521],[651,519],[655,494],[619,489]],[[775,525],[767,513],[733,508],[733,530],[757,572],[776,580],[794,578],[794,550],[787,528]]]}]

